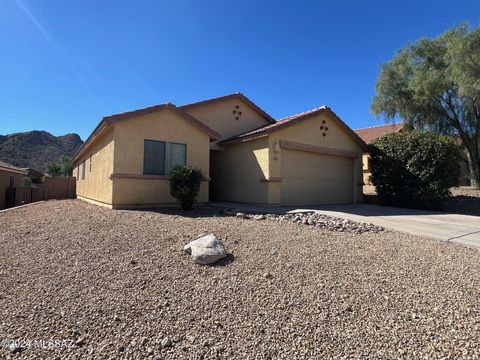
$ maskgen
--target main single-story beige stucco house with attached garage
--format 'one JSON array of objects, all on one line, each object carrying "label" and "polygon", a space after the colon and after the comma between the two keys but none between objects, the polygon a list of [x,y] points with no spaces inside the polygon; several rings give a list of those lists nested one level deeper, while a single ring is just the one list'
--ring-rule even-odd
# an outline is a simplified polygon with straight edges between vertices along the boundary
[{"label": "main single-story beige stucco house with attached garage", "polygon": [[362,200],[366,149],[328,107],[275,121],[236,93],[106,116],[72,165],[77,197],[110,208],[175,204],[176,165],[204,173],[199,203],[351,203]]}]

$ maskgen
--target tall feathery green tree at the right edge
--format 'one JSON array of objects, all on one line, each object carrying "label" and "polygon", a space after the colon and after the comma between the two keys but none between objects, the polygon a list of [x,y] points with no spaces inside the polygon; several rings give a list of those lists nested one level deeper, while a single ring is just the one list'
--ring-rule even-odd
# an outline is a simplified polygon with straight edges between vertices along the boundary
[{"label": "tall feathery green tree at the right edge", "polygon": [[371,109],[458,136],[472,185],[480,186],[480,28],[462,24],[401,49],[381,66]]}]

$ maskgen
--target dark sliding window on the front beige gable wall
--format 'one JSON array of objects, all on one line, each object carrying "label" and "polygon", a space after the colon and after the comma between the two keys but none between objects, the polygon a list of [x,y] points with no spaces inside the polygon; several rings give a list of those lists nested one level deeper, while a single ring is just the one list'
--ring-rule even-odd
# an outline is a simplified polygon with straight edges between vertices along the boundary
[{"label": "dark sliding window on the front beige gable wall", "polygon": [[143,155],[145,175],[170,175],[175,166],[186,165],[187,145],[145,140]]}]

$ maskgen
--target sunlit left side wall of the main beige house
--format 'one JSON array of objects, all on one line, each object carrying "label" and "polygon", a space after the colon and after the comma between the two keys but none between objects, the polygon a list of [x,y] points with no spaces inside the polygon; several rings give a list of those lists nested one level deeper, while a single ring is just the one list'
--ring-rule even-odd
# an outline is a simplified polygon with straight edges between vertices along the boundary
[{"label": "sunlit left side wall of the main beige house", "polygon": [[[73,176],[77,178],[77,197],[94,200],[103,205],[112,205],[112,181],[114,157],[114,131],[106,130],[72,164]],[[90,171],[90,159],[92,168]],[[82,162],[85,160],[85,179],[82,180]],[[77,176],[78,174],[78,176]]]}]

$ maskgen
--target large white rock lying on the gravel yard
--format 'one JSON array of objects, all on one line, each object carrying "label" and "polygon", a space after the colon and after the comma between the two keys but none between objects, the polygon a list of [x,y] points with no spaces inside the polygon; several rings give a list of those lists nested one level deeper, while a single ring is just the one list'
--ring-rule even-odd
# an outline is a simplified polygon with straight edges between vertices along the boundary
[{"label": "large white rock lying on the gravel yard", "polygon": [[204,235],[191,241],[185,245],[183,250],[192,255],[195,263],[201,265],[212,264],[227,256],[223,242],[213,234]]}]

